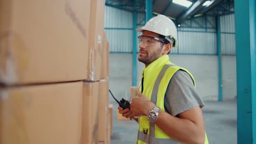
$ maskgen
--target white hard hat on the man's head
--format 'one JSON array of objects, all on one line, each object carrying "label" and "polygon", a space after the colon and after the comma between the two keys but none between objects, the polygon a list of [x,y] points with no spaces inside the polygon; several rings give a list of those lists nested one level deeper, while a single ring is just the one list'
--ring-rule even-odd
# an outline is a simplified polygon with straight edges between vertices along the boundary
[{"label": "white hard hat on the man's head", "polygon": [[164,15],[159,14],[158,16],[152,17],[145,26],[142,26],[141,29],[136,29],[138,32],[143,32],[145,30],[165,36],[165,39],[169,42],[172,42],[171,38],[173,38],[173,47],[178,46],[177,28],[174,22]]}]

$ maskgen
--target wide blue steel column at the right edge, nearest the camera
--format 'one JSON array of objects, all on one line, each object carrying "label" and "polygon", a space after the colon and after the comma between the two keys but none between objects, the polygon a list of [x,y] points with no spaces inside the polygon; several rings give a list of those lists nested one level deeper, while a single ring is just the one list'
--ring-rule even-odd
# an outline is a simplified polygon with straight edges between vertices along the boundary
[{"label": "wide blue steel column at the right edge, nearest the camera", "polygon": [[[235,0],[237,144],[256,144],[255,0]],[[254,141],[253,141],[254,139]]]}]

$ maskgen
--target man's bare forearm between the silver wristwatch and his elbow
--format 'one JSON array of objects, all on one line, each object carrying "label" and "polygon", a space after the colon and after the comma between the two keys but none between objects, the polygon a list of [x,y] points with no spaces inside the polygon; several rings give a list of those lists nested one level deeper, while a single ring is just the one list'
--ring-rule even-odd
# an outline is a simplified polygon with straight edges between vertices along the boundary
[{"label": "man's bare forearm between the silver wristwatch and his elbow", "polygon": [[176,118],[160,110],[155,124],[176,141],[185,144],[200,144],[204,142],[204,125],[196,124],[184,118]]}]

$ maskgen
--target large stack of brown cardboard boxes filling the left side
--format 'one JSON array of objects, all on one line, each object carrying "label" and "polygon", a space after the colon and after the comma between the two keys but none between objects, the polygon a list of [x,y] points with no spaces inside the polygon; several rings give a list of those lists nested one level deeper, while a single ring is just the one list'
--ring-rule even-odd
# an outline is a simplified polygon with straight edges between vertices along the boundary
[{"label": "large stack of brown cardboard boxes filling the left side", "polygon": [[110,143],[104,10],[0,0],[0,144]]}]

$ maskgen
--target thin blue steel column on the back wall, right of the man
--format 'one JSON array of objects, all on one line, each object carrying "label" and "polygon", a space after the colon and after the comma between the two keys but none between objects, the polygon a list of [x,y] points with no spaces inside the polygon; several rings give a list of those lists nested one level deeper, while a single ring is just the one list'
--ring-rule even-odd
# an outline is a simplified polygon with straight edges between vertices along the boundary
[{"label": "thin blue steel column on the back wall, right of the man", "polygon": [[222,101],[222,69],[221,69],[221,45],[220,45],[220,16],[217,16],[217,53],[219,65],[219,101]]}]

